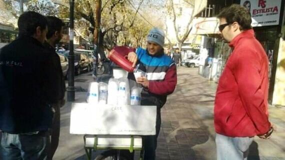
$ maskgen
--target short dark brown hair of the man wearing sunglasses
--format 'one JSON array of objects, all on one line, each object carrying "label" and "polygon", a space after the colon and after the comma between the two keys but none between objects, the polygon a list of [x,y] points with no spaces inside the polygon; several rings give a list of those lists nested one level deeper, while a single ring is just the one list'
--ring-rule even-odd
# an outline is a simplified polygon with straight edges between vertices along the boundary
[{"label": "short dark brown hair of the man wearing sunglasses", "polygon": [[250,12],[239,4],[231,4],[228,7],[223,8],[217,15],[217,18],[225,18],[226,22],[232,24],[238,22],[240,30],[251,29],[251,16]]}]

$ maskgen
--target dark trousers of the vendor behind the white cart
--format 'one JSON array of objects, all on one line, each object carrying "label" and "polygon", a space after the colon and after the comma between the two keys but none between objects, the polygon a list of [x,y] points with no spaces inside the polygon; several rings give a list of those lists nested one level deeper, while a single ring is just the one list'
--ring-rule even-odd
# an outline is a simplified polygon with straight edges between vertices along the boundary
[{"label": "dark trousers of the vendor behind the white cart", "polygon": [[161,124],[161,116],[160,116],[160,108],[157,107],[156,111],[156,134],[155,135],[146,135],[142,136],[142,144],[144,149],[144,160],[154,160],[155,159],[155,149],[157,146],[157,137],[160,130]]}]

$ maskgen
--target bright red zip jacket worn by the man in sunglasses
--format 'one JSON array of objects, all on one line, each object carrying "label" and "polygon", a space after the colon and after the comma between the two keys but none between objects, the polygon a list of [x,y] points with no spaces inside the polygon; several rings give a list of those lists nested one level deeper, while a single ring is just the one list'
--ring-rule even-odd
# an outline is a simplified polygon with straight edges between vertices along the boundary
[{"label": "bright red zip jacket worn by the man in sunglasses", "polygon": [[266,133],[268,121],[268,58],[252,29],[235,36],[233,48],[219,78],[214,125],[231,137]]}]

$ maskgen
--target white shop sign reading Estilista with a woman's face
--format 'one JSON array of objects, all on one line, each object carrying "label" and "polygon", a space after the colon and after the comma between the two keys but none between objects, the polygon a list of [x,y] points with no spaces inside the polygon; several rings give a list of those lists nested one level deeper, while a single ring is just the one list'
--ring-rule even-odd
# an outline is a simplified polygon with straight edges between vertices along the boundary
[{"label": "white shop sign reading Estilista with a woman's face", "polygon": [[281,0],[240,0],[251,14],[252,26],[278,25]]}]

